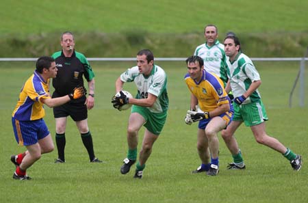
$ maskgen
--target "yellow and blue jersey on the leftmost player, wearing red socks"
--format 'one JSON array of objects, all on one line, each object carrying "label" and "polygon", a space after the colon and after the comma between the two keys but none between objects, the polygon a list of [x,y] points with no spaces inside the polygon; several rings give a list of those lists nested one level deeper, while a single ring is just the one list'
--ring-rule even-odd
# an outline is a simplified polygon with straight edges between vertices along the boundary
[{"label": "yellow and blue jersey on the leftmost player, wearing red socks", "polygon": [[27,79],[21,89],[12,117],[16,120],[38,120],[43,118],[45,111],[40,98],[51,98],[49,79],[44,81],[41,75],[34,71],[34,74]]}]

